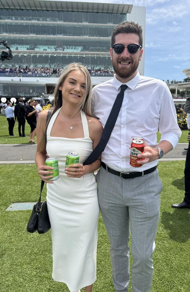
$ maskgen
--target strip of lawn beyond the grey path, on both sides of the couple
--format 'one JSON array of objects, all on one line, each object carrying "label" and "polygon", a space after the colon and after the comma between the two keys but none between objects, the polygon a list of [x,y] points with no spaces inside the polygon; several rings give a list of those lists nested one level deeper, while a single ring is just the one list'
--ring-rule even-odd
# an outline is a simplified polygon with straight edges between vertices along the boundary
[{"label": "strip of lawn beyond the grey path, on both sides of the couple", "polygon": [[[182,136],[179,139],[179,143],[187,143],[187,135],[189,133],[189,130],[183,130],[182,131]],[[18,134],[18,122],[15,122],[14,126],[14,134],[16,136],[9,136],[8,135],[8,121],[6,120],[6,117],[0,116],[0,144],[25,144],[28,143],[29,137],[28,138],[23,138],[19,137]],[[30,126],[26,121],[25,124],[25,134],[30,135]],[[157,133],[157,142],[160,141],[160,133]],[[36,137],[35,137],[35,141]]]}]

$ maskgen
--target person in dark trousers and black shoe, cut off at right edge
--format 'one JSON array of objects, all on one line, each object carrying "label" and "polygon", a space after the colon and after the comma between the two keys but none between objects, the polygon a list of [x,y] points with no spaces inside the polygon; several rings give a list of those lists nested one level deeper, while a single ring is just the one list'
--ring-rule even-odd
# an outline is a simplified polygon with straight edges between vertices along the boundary
[{"label": "person in dark trousers and black shoe, cut off at right edge", "polygon": [[184,106],[184,112],[187,113],[187,128],[189,134],[187,135],[187,140],[189,141],[189,147],[187,149],[187,155],[185,159],[185,169],[184,169],[184,178],[185,178],[185,197],[181,203],[172,204],[173,208],[188,208],[190,209],[190,98],[186,99]]}]

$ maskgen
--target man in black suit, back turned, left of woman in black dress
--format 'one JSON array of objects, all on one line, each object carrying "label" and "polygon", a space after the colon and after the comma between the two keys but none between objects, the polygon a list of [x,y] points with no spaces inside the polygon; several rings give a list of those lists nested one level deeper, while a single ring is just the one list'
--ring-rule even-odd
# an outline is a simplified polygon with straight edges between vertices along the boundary
[{"label": "man in black suit, back turned, left of woman in black dress", "polygon": [[[26,114],[26,108],[23,105],[23,99],[19,98],[18,100],[18,104],[15,106],[15,118],[17,117],[18,120],[18,133],[19,133],[19,137],[28,137],[25,135],[25,114]],[[22,126],[22,133],[21,134],[21,126]]]}]

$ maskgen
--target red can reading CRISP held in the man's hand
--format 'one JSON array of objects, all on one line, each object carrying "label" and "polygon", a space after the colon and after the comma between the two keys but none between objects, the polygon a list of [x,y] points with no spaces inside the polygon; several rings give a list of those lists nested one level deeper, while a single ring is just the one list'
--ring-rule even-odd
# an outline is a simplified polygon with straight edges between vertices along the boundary
[{"label": "red can reading CRISP held in the man's hand", "polygon": [[137,154],[144,153],[144,141],[134,139],[131,143],[130,165],[133,167],[140,167],[142,164],[137,164],[137,161],[143,160],[137,157]]}]

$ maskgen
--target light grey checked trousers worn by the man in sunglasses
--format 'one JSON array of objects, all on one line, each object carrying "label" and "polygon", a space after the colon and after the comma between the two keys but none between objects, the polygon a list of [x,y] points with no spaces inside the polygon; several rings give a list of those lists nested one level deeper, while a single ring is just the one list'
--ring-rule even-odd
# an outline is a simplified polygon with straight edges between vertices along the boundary
[{"label": "light grey checked trousers worn by the man in sunglasses", "polygon": [[158,170],[123,179],[103,167],[96,175],[98,200],[110,239],[113,284],[117,292],[129,286],[129,222],[132,236],[132,292],[149,292],[163,185]]}]

